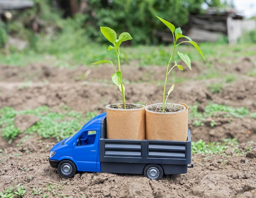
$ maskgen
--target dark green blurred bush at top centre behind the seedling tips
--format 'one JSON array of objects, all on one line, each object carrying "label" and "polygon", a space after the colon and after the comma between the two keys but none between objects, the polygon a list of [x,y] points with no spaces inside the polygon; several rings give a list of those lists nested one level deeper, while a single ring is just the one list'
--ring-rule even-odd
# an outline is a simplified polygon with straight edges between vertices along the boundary
[{"label": "dark green blurred bush at top centre behind the seedling tips", "polygon": [[85,29],[88,28],[90,38],[98,41],[103,39],[99,27],[107,26],[117,33],[129,32],[132,44],[157,43],[157,31],[166,28],[156,20],[156,15],[179,27],[189,21],[190,14],[202,11],[202,3],[214,7],[221,5],[220,0],[90,0],[88,5],[93,8],[94,15],[85,20]]}]

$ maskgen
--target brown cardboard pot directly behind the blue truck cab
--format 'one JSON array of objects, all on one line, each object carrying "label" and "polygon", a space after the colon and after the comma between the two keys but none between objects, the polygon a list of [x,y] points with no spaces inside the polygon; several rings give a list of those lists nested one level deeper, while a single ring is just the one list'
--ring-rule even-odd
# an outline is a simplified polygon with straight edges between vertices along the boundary
[{"label": "brown cardboard pot directly behind the blue truck cab", "polygon": [[[144,106],[139,109],[114,109],[106,106],[107,138],[144,140],[146,121]],[[141,105],[138,105],[141,107]]]}]

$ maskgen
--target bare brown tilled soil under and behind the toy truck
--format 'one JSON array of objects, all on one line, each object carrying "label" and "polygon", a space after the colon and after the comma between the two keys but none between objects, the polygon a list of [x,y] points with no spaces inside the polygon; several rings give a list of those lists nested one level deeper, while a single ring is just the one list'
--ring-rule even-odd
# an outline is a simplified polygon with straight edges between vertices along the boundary
[{"label": "bare brown tilled soil under and behind the toy truck", "polygon": [[[204,111],[208,102],[247,107],[256,112],[256,78],[245,74],[255,69],[255,57],[239,58],[234,63],[220,63],[210,60],[223,74],[236,73],[233,82],[224,83],[220,93],[211,93],[207,86],[222,82],[222,79],[187,80],[176,83],[170,100],[187,105],[200,104]],[[183,78],[199,76],[204,65],[193,63],[192,71],[176,73]],[[127,80],[127,102],[160,102],[164,67],[124,67]],[[31,109],[41,105],[61,111],[66,105],[76,111],[105,111],[105,105],[121,102],[121,93],[110,82],[111,68],[79,67],[75,69],[53,68],[49,65],[28,65],[26,67],[0,65],[0,108],[5,106],[17,110]],[[29,118],[27,118],[29,122]],[[31,119],[34,119],[31,117]],[[30,120],[31,121],[31,120]],[[208,120],[209,121],[209,120]],[[187,174],[168,175],[162,180],[149,180],[142,175],[79,173],[74,178],[64,179],[48,162],[49,150],[56,143],[54,139],[42,141],[39,136],[20,142],[20,135],[11,145],[0,139],[0,192],[21,183],[27,190],[23,197],[254,197],[256,198],[256,120],[254,118],[215,118],[216,125],[194,127],[189,120],[193,141],[221,141],[222,138],[237,138],[240,151],[252,150],[237,156],[228,148],[225,155],[193,154],[194,168]],[[21,126],[20,126],[21,127]],[[253,140],[253,141],[252,141]],[[249,142],[251,141],[251,142]],[[18,144],[18,145],[17,145]],[[40,194],[33,195],[33,188]]]}]

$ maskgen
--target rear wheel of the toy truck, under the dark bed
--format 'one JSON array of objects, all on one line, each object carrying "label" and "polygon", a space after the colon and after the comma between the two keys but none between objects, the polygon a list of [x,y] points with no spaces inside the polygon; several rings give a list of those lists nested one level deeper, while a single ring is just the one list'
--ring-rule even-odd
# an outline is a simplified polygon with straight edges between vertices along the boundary
[{"label": "rear wheel of the toy truck, under the dark bed", "polygon": [[164,175],[164,170],[161,166],[157,164],[150,164],[146,165],[144,168],[144,176],[149,178],[150,180],[159,180],[163,177]]}]

